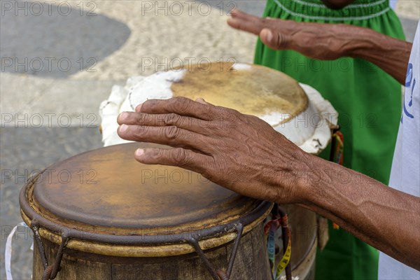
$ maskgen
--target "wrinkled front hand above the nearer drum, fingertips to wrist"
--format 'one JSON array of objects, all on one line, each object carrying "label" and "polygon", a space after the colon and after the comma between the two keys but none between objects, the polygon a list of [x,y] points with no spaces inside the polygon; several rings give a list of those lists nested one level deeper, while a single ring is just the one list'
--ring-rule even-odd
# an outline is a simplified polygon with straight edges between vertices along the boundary
[{"label": "wrinkled front hand above the nearer drum, fingertips to wrist", "polygon": [[141,163],[190,169],[260,200],[304,200],[297,181],[310,155],[260,118],[175,97],[148,100],[121,113],[118,123],[123,139],[174,147],[139,149],[134,157]]}]

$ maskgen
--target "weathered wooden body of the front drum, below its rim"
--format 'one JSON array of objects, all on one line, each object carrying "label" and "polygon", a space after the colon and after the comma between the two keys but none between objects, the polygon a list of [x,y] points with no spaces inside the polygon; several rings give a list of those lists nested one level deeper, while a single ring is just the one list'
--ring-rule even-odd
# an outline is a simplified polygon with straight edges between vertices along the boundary
[{"label": "weathered wooden body of the front drum, below its rim", "polygon": [[[230,279],[270,279],[267,250],[262,246],[264,240],[261,225],[242,237],[237,251]],[[43,239],[48,263],[54,263],[58,244]],[[255,244],[255,245],[254,245]],[[233,244],[226,244],[205,255],[211,265],[218,268],[228,267]],[[38,248],[34,247],[33,279],[41,279],[43,274]],[[196,253],[174,257],[113,257],[85,253],[66,248],[61,269],[55,279],[213,279],[202,259]]]}]

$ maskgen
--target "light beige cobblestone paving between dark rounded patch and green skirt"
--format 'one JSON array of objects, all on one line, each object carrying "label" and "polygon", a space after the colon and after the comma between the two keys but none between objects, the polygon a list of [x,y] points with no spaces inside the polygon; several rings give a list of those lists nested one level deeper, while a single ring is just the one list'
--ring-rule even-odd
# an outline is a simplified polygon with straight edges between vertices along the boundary
[{"label": "light beige cobblestone paving between dark rounded patch and green skirt", "polygon": [[[71,78],[125,80],[200,61],[252,62],[256,37],[226,24],[226,2],[99,1],[97,9],[125,22],[132,34],[122,48],[95,66],[96,72],[81,71]],[[247,2],[264,6],[262,1]]]}]

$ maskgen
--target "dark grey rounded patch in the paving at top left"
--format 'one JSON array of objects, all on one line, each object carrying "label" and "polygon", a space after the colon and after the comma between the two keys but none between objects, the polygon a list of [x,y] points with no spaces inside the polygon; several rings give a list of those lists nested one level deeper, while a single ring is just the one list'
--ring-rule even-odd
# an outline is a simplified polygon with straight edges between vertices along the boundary
[{"label": "dark grey rounded patch in the paving at top left", "polygon": [[[90,71],[130,36],[123,22],[90,13],[77,1],[71,8],[69,2],[61,6],[53,3],[2,4],[2,72],[66,78],[78,71]],[[12,6],[10,10],[8,5]]]}]

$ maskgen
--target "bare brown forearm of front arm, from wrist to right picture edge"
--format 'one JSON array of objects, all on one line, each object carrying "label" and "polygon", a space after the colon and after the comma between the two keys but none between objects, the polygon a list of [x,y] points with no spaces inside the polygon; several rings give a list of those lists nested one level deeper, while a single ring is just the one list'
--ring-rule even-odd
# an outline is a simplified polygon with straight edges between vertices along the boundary
[{"label": "bare brown forearm of front arm, from wrist to right picture edge", "polygon": [[[363,174],[309,156],[303,207],[356,237],[420,269],[420,199]],[[303,178],[303,177],[302,177]]]}]

